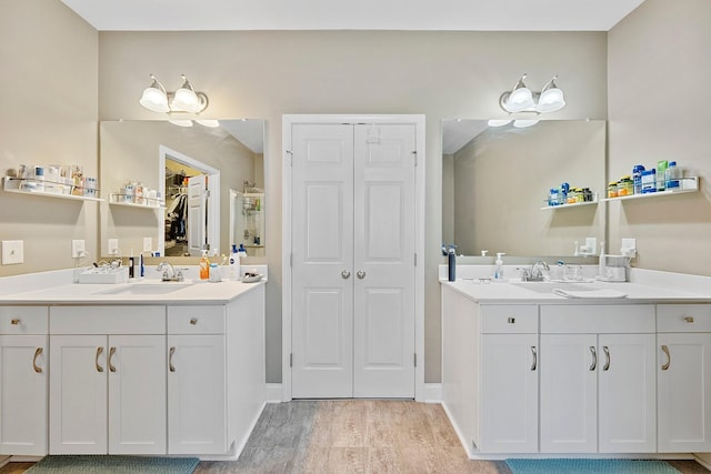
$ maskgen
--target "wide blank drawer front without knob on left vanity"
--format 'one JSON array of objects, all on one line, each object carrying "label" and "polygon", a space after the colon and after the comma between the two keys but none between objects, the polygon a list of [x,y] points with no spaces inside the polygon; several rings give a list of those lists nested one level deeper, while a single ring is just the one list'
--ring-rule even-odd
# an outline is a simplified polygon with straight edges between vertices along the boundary
[{"label": "wide blank drawer front without knob on left vanity", "polygon": [[50,334],[166,334],[166,306],[52,306]]}]

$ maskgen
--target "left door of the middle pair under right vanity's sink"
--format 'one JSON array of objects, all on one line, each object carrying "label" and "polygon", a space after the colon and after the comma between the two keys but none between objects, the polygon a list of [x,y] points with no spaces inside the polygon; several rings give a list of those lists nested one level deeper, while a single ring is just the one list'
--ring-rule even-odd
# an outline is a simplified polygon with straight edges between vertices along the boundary
[{"label": "left door of the middle pair under right vanity's sink", "polygon": [[541,335],[541,452],[598,451],[598,337]]}]

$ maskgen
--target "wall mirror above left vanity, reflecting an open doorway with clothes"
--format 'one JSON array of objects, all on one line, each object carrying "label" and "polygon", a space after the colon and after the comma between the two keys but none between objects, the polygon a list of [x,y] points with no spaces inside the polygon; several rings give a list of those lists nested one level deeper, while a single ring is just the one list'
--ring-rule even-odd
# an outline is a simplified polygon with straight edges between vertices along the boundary
[{"label": "wall mirror above left vanity, reflecting an open doorway with clothes", "polygon": [[100,123],[103,258],[264,254],[263,120],[190,123]]}]

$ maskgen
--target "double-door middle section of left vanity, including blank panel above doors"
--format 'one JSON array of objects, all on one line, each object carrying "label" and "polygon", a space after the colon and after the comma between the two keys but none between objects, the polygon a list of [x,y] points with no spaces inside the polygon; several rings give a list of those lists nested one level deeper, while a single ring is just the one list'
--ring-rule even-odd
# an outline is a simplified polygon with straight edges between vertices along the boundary
[{"label": "double-door middle section of left vanity, including blank panel above doors", "polygon": [[50,454],[166,454],[166,307],[50,309]]}]

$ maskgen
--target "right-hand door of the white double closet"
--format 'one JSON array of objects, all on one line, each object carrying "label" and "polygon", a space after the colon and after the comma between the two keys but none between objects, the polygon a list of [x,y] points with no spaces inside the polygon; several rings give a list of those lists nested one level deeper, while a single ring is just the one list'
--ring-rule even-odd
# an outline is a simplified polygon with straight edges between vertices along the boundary
[{"label": "right-hand door of the white double closet", "polygon": [[354,396],[414,396],[414,125],[354,128]]}]

